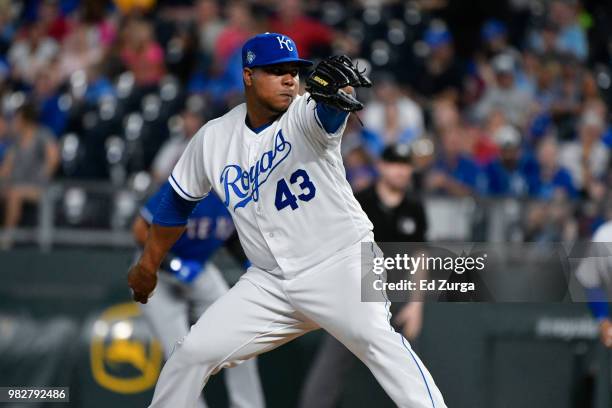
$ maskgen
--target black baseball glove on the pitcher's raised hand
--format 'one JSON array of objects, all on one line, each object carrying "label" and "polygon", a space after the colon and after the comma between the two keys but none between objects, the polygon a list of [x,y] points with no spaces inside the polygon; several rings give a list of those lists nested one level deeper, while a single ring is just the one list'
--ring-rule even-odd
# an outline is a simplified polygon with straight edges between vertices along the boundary
[{"label": "black baseball glove on the pitcher's raised hand", "polygon": [[363,104],[342,88],[372,86],[372,82],[363,72],[359,71],[346,55],[329,57],[319,62],[306,79],[306,91],[319,103],[346,112],[355,112],[363,109]]}]

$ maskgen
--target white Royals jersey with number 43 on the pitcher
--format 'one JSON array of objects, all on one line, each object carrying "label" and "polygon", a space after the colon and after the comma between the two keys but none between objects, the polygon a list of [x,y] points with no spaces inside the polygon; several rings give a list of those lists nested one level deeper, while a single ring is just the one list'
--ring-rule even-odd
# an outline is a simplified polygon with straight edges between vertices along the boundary
[{"label": "white Royals jersey with number 43 on the pitcher", "polygon": [[241,104],[198,131],[169,178],[186,200],[214,189],[248,258],[267,271],[309,268],[373,228],[346,181],[340,154],[346,121],[329,134],[315,107],[308,94],[298,96],[255,133]]}]

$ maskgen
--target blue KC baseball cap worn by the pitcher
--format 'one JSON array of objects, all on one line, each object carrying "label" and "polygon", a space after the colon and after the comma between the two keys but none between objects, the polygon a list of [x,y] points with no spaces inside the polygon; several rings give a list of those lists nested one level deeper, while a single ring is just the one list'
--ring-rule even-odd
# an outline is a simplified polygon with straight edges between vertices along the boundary
[{"label": "blue KC baseball cap worn by the pitcher", "polygon": [[301,59],[298,56],[295,42],[284,34],[258,34],[248,39],[242,46],[243,68],[262,67],[283,62],[312,65],[312,61]]}]

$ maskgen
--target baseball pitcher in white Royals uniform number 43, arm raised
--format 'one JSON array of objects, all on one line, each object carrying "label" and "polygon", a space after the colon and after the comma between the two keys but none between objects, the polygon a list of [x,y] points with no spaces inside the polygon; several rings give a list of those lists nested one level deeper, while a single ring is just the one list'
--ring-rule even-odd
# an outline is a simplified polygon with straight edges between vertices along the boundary
[{"label": "baseball pitcher in white Royals uniform number 43, arm raised", "polygon": [[346,181],[340,140],[349,112],[362,108],[353,88],[370,81],[347,57],[330,57],[298,95],[299,68],[311,62],[277,33],[249,39],[242,64],[246,103],[191,140],[128,282],[134,299],[146,303],[161,260],[211,189],[229,209],[252,266],[177,344],[150,406],[193,407],[220,369],[323,328],[398,406],[446,407],[421,360],[389,326],[386,304],[361,302],[362,270],[373,273],[381,254]]}]

